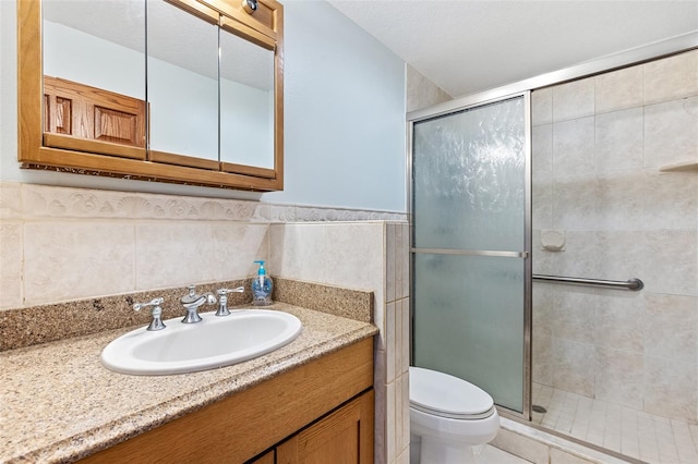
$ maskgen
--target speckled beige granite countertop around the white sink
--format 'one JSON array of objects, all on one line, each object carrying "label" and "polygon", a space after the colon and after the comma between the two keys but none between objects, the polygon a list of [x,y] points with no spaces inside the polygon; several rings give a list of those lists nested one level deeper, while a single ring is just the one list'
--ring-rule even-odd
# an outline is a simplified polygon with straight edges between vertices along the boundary
[{"label": "speckled beige granite countertop around the white sink", "polygon": [[1,352],[0,462],[85,457],[377,333],[368,322],[285,303],[268,308],[296,315],[300,337],[258,358],[202,373],[107,370],[101,350],[133,327]]}]

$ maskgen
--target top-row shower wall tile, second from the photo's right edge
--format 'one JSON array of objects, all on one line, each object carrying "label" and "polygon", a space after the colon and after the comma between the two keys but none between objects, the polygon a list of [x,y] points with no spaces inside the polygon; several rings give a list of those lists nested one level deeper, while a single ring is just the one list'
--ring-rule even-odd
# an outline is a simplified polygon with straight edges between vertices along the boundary
[{"label": "top-row shower wall tile, second from the photo's right edge", "polygon": [[645,68],[641,65],[600,74],[594,81],[597,113],[645,103]]}]

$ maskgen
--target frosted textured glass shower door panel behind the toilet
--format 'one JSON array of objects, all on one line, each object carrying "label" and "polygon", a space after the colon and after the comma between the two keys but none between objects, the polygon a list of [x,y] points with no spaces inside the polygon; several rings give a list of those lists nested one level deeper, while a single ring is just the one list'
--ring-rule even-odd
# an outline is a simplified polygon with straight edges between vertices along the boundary
[{"label": "frosted textured glass shower door panel behind the toilet", "polygon": [[464,378],[521,414],[527,98],[412,125],[413,364]]}]

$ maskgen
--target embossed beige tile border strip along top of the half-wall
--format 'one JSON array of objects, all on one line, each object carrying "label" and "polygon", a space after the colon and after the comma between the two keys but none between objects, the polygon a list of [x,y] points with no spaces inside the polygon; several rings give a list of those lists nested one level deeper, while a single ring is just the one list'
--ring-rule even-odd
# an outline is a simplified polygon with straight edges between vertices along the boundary
[{"label": "embossed beige tile border strip along top of the half-wall", "polygon": [[0,183],[0,219],[161,219],[191,221],[406,221],[401,212],[276,205],[253,200]]}]

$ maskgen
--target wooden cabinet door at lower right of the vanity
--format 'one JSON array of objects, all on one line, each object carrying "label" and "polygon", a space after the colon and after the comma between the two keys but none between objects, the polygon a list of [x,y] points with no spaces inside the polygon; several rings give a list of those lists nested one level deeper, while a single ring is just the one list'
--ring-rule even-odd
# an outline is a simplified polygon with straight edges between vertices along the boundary
[{"label": "wooden cabinet door at lower right of the vanity", "polygon": [[276,449],[277,464],[373,463],[373,390]]}]

